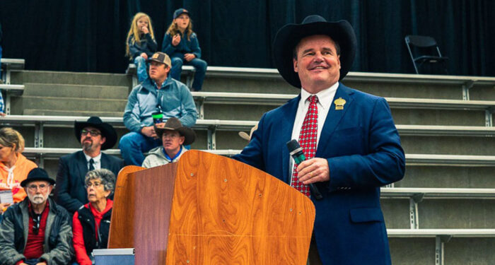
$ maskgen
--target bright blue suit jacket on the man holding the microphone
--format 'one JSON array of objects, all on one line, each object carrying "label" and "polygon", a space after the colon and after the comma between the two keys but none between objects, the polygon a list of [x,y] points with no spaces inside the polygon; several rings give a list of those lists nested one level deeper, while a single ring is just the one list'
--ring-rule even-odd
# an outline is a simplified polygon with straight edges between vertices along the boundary
[{"label": "bright blue suit jacket on the man holding the microphone", "polygon": [[[380,186],[404,176],[400,138],[384,98],[339,84],[334,100],[344,110],[327,115],[316,151],[326,158],[330,182],[318,182],[314,236],[323,264],[390,264],[387,231],[380,208]],[[292,127],[301,95],[263,114],[258,129],[234,158],[289,184]]]}]

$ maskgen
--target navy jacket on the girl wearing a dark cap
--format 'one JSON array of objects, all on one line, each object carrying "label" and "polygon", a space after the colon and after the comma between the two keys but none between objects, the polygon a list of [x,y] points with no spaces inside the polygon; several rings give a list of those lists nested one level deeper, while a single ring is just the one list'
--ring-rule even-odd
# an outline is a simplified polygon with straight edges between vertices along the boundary
[{"label": "navy jacket on the girl wearing a dark cap", "polygon": [[[166,33],[163,37],[163,44],[161,51],[168,54],[170,57],[182,57],[184,54],[194,54],[196,58],[201,58],[201,48],[199,48],[199,42],[196,33],[192,33],[190,40],[187,40],[187,34],[184,33],[180,36],[180,42],[177,46],[172,45],[172,37],[170,34]],[[181,57],[181,58],[182,58]]]}]

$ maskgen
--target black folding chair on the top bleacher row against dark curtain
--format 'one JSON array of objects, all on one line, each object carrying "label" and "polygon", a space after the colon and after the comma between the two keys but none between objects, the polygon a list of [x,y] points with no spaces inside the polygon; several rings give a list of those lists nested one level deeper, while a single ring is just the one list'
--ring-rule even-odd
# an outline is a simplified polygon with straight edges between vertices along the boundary
[{"label": "black folding chair on the top bleacher row against dark curtain", "polygon": [[433,37],[407,35],[405,40],[416,73],[419,74],[419,70],[424,69],[424,66],[427,64],[430,69],[429,73],[433,73],[433,66],[442,66],[444,73],[448,74],[448,57],[442,56],[440,49],[436,44],[436,40],[433,39]]}]

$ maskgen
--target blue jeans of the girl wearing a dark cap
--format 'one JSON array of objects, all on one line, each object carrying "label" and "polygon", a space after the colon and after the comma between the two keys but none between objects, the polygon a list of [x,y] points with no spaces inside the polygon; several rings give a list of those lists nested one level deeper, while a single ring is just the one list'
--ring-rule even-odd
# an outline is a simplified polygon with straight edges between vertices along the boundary
[{"label": "blue jeans of the girl wearing a dark cap", "polygon": [[192,90],[199,91],[203,86],[204,75],[206,74],[206,61],[198,58],[194,58],[191,61],[184,60],[184,54],[172,54],[170,57],[172,60],[172,69],[170,69],[170,76],[175,80],[180,81],[180,72],[182,72],[182,64],[192,65],[196,69],[194,73],[194,81],[192,81]]}]

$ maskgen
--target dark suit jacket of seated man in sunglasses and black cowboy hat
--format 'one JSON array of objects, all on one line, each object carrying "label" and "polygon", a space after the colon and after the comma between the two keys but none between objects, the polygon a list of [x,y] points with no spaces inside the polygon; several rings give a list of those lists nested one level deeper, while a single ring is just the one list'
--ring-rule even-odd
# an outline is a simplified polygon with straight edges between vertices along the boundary
[{"label": "dark suit jacket of seated man in sunglasses and black cowboy hat", "polygon": [[[124,166],[122,159],[105,153],[101,153],[100,163],[101,168],[112,171],[115,177]],[[57,203],[66,208],[71,215],[83,204],[88,203],[88,192],[84,187],[84,177],[86,177],[87,172],[88,162],[83,151],[64,155],[59,159],[55,198]],[[117,179],[115,179],[115,183],[117,183]]]}]

